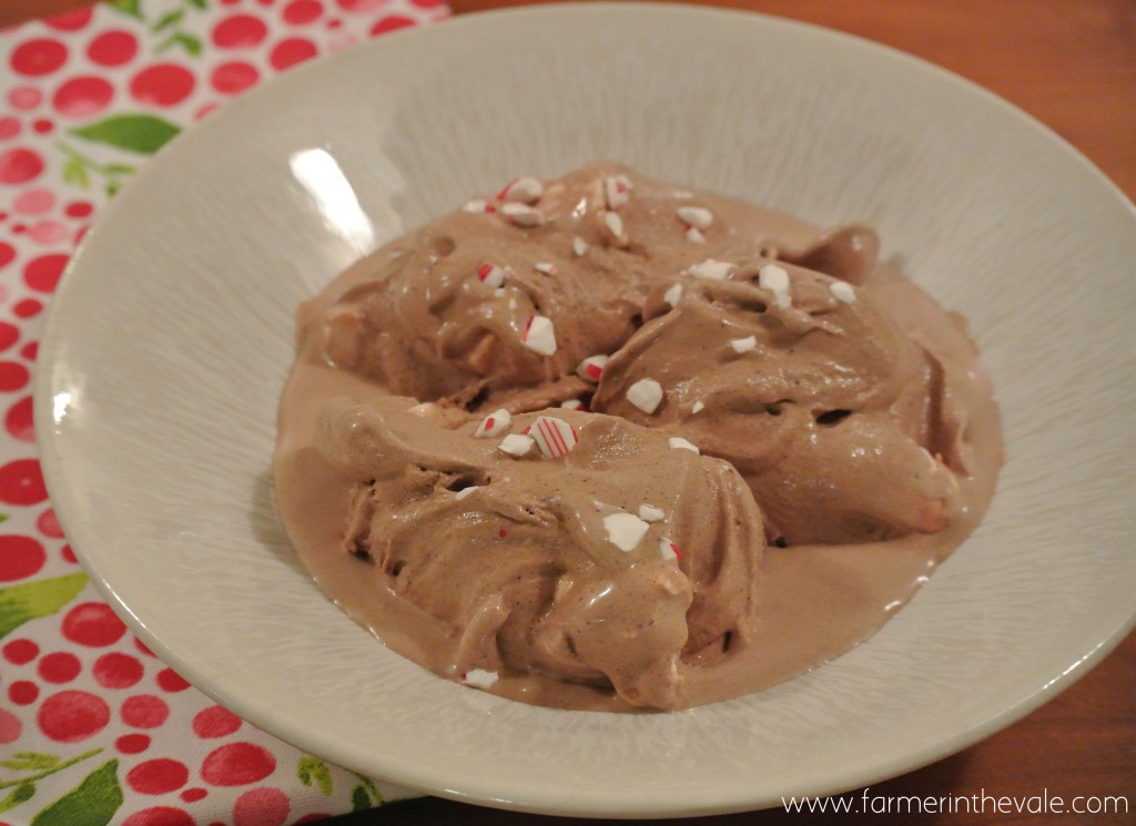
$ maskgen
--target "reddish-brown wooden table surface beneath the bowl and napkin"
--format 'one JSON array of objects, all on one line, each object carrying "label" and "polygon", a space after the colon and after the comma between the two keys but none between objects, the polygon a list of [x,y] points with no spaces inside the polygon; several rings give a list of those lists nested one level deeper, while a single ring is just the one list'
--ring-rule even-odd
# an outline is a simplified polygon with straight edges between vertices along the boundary
[{"label": "reddish-brown wooden table surface beneath the bowl and napkin", "polygon": [[[331,2],[332,0],[327,0]],[[450,0],[457,14],[526,0]],[[0,0],[0,26],[90,0]],[[867,37],[938,64],[996,92],[1052,127],[1136,200],[1136,0],[718,0]],[[1134,595],[1136,600],[1136,595]],[[897,795],[1028,798],[1120,795],[1120,814],[938,816],[950,823],[1136,821],[1136,634],[1049,705],[953,757],[871,789]],[[859,793],[853,796],[860,799]],[[876,803],[879,806],[880,803]],[[1127,811],[1127,814],[1125,814]],[[886,816],[885,816],[886,817]],[[870,819],[870,818],[869,818]],[[933,823],[936,816],[887,817]],[[335,819],[365,824],[499,826],[593,823],[482,809],[433,798]],[[864,816],[770,810],[710,824],[866,823]],[[676,820],[676,824],[694,823]]]}]

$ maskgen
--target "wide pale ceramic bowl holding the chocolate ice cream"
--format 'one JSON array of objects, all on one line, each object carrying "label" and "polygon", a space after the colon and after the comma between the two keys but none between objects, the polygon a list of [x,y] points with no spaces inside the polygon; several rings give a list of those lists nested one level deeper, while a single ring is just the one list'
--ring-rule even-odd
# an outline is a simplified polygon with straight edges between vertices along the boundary
[{"label": "wide pale ceramic bowl holding the chocolate ice cream", "polygon": [[[473,193],[599,158],[875,225],[886,258],[969,315],[1005,416],[988,519],[893,622],[788,684],[680,714],[532,708],[434,677],[324,599],[273,511],[295,304]],[[779,806],[991,734],[1131,627],[1134,261],[1133,209],[1100,172],[897,52],[683,7],[475,16],[291,71],[162,151],[66,275],[36,425],[111,605],[282,739],[507,808]]]}]

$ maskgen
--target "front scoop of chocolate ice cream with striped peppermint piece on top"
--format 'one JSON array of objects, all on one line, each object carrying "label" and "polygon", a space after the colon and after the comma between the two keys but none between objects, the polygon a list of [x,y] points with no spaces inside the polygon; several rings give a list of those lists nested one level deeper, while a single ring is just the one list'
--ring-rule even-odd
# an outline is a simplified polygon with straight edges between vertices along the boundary
[{"label": "front scoop of chocolate ice cream with striped peppermint piece on top", "polygon": [[[494,420],[494,421],[488,421]],[[325,407],[354,480],[344,553],[460,635],[451,664],[688,705],[679,666],[753,634],[761,515],[726,462],[604,415]]]}]

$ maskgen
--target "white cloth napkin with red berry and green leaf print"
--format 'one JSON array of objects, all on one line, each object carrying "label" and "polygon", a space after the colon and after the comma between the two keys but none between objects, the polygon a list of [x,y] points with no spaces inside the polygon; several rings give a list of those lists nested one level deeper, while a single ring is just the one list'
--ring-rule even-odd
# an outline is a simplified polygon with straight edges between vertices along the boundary
[{"label": "white cloth napkin with red berry and green leaf print", "polygon": [[0,826],[282,826],[411,793],[275,740],[127,632],[48,502],[32,373],[64,267],[166,141],[443,0],[112,0],[0,32]]}]

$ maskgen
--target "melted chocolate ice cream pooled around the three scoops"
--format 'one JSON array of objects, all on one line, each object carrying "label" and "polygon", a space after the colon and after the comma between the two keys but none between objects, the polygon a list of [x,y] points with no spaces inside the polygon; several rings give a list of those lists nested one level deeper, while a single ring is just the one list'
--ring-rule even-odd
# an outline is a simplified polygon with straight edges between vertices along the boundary
[{"label": "melted chocolate ice cream pooled around the three scoops", "polygon": [[[759,227],[762,237],[776,239],[784,248],[805,247],[818,236],[812,227],[758,208],[713,196],[701,202],[712,203],[716,214],[729,213],[738,227]],[[336,300],[375,278],[376,260],[400,254],[395,242],[348,270],[301,307],[298,357],[279,408],[274,456],[277,504],[296,553],[331,599],[389,648],[460,681],[456,663],[461,656],[463,629],[404,599],[392,589],[381,566],[344,550],[344,525],[357,481],[334,467],[315,444],[320,411],[328,399],[349,397],[379,408],[391,405],[392,393],[383,382],[329,363],[320,319]],[[951,376],[954,401],[967,412],[964,432],[958,435],[967,465],[957,474],[958,509],[935,533],[910,532],[884,541],[863,538],[840,545],[769,545],[757,578],[755,612],[747,639],[742,641],[744,644],[730,646],[708,665],[698,664],[696,658],[680,661],[682,690],[675,707],[768,688],[866,640],[911,599],[935,565],[972,531],[985,512],[1002,462],[999,415],[977,354],[959,321],[905,278],[885,268],[877,267],[869,283],[858,286],[858,290],[889,310],[913,340],[936,354]],[[682,428],[677,432],[683,432]],[[492,693],[535,705],[642,710],[620,699],[610,686],[509,671],[498,676],[488,689]]]}]

